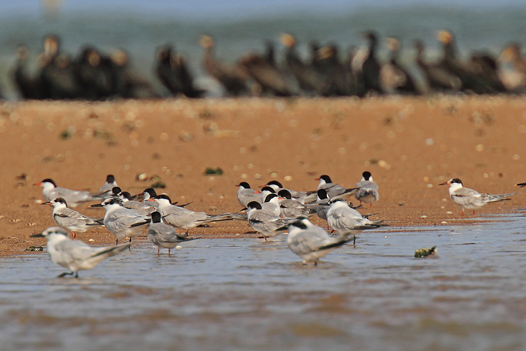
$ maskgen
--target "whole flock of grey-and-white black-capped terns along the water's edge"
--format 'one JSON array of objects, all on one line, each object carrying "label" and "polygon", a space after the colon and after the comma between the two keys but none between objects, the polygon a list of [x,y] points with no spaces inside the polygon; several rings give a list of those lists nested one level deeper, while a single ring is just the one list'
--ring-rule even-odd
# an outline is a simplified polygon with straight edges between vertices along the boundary
[{"label": "whole flock of grey-and-white black-capped terns along the water's edge", "polygon": [[[304,264],[313,262],[316,265],[318,259],[330,250],[351,240],[355,244],[356,236],[363,230],[385,226],[383,220],[369,219],[369,216],[376,214],[362,215],[357,210],[362,204],[370,204],[372,208],[372,203],[379,199],[378,185],[370,172],[363,172],[360,181],[352,188],[332,183],[328,175],[316,180],[319,180],[317,190],[311,192],[284,188],[277,180],[268,182],[260,190],[241,182],[237,184],[237,199],[244,209],[237,213],[209,215],[185,208],[189,204],[177,205],[166,194],[157,195],[153,188],[132,196],[117,186],[113,175],[107,176],[106,183],[96,193],[58,187],[52,179],[44,179],[34,185],[42,186],[46,200],[42,204],[53,206],[52,215],[58,227],[49,227],[33,236],[45,237],[47,252],[53,262],[70,270],[60,277],[78,277],[78,270],[93,268],[102,259],[129,248],[131,239],[140,235],[146,225],[148,240],[158,247],[157,255],[160,248],[167,248],[170,255],[171,248],[194,239],[188,238],[190,229],[221,220],[247,220],[265,241],[287,230],[290,250],[300,256]],[[450,186],[449,195],[454,203],[462,207],[462,215],[465,209],[470,209],[474,216],[475,210],[482,206],[509,200],[510,196],[517,194],[479,193],[463,187],[458,178],[440,185]],[[526,186],[526,183],[517,185]],[[351,194],[359,200],[359,206],[347,203],[344,197]],[[90,207],[103,207],[106,210],[104,217],[89,217],[72,209],[87,202],[97,202]],[[332,228],[330,233],[310,222],[308,217],[315,214],[327,221],[327,230]],[[95,226],[104,226],[115,235],[116,245],[91,247],[75,240],[75,233],[84,233]],[[73,240],[69,239],[69,232],[72,232]],[[337,235],[331,236],[333,232]],[[125,238],[129,238],[129,242],[118,243],[119,239]]]}]

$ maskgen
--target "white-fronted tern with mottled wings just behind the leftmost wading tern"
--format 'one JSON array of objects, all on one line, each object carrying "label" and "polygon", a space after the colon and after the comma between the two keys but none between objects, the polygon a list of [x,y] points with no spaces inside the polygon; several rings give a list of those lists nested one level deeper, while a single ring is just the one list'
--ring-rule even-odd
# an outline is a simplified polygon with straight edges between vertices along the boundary
[{"label": "white-fronted tern with mottled wings just behind the leftmost wading tern", "polygon": [[76,210],[67,207],[67,202],[62,197],[57,197],[41,205],[53,206],[53,219],[60,227],[71,232],[75,240],[75,232],[84,233],[90,227],[103,225],[104,218],[93,218],[78,213]]}]

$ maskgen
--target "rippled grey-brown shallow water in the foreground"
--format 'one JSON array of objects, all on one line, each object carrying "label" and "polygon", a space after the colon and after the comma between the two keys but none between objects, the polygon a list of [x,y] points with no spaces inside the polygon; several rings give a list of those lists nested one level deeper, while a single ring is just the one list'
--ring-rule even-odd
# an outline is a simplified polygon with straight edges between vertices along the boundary
[{"label": "rippled grey-brown shallow water in the foreground", "polygon": [[[0,260],[2,349],[526,348],[526,218],[368,232],[304,266],[278,237],[140,242],[80,278]],[[393,228],[390,228],[392,230]],[[437,245],[438,253],[413,258]]]}]

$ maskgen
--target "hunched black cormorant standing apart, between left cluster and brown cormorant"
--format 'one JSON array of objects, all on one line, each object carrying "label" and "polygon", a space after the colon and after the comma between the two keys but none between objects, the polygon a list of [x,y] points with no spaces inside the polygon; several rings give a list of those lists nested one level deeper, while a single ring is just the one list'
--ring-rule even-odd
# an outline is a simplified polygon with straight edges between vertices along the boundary
[{"label": "hunched black cormorant standing apart, between left cluster and brown cormorant", "polygon": [[157,77],[171,94],[187,97],[201,97],[205,91],[194,87],[194,78],[181,55],[174,53],[171,45],[160,47],[157,51]]}]

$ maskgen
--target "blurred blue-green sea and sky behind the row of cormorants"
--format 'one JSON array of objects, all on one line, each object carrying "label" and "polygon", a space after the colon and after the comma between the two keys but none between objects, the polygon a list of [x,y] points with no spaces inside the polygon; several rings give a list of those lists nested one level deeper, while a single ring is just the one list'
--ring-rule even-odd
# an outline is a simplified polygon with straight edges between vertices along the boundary
[{"label": "blurred blue-green sea and sky behind the row of cormorants", "polygon": [[[247,52],[263,52],[267,39],[274,41],[276,58],[283,61],[280,33],[292,33],[298,52],[308,57],[311,41],[335,43],[343,49],[365,46],[359,32],[374,29],[380,40],[397,36],[401,60],[411,66],[416,52],[412,40],[426,44],[426,58],[438,58],[437,31],[448,29],[457,39],[459,54],[486,49],[498,56],[506,44],[526,42],[526,1],[490,0],[416,1],[390,0],[266,0],[217,2],[215,0],[3,0],[0,11],[0,86],[3,95],[16,98],[12,71],[17,47],[28,48],[28,70],[37,69],[43,37],[56,34],[60,50],[77,57],[85,45],[102,52],[123,49],[130,65],[163,96],[167,90],[156,78],[156,49],[173,44],[187,59],[196,84],[210,88],[201,65],[199,35],[216,40],[216,57],[234,63]],[[385,59],[380,45],[378,57]]]}]

